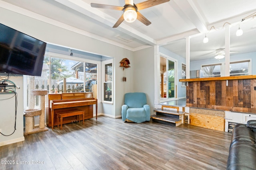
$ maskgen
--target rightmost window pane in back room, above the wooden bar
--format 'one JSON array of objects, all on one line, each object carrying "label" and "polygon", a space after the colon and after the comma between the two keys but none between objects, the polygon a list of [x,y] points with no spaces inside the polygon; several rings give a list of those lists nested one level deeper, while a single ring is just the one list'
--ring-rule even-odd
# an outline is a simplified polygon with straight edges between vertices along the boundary
[{"label": "rightmost window pane in back room, above the wooden bar", "polygon": [[230,76],[244,76],[248,75],[248,63],[230,63]]}]

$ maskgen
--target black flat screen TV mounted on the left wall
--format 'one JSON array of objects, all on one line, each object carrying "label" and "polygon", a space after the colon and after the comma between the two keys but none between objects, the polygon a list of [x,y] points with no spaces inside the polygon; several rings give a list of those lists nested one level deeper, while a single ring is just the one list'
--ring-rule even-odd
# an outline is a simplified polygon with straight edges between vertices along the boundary
[{"label": "black flat screen TV mounted on the left wall", "polygon": [[41,76],[46,43],[0,23],[0,72]]}]

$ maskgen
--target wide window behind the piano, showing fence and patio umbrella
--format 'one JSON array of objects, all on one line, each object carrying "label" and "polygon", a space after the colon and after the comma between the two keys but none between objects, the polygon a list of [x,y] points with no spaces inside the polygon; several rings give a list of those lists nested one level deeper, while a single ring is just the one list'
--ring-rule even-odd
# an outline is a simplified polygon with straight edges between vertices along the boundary
[{"label": "wide window behind the piano, showing fence and patio umbrella", "polygon": [[[24,76],[26,81],[26,95],[24,106],[28,106],[28,94],[31,89],[47,89],[49,93],[63,92],[92,92],[97,98],[97,61],[84,62],[73,58],[70,60],[66,56],[46,53],[41,76]],[[66,87],[64,87],[66,78]],[[34,82],[34,87],[29,86]],[[48,103],[48,102],[46,102]],[[36,96],[36,106],[38,106],[38,96]]]}]

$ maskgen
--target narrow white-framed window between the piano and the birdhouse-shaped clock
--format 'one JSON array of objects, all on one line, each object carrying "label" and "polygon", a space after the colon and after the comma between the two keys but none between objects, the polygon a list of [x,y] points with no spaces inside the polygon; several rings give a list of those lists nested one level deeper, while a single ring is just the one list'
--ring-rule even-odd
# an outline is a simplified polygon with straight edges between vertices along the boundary
[{"label": "narrow white-framed window between the piano and the birdhouse-shaped clock", "polygon": [[104,102],[113,102],[112,98],[112,89],[113,89],[113,66],[112,66],[112,60],[108,60],[105,62],[102,62],[102,71],[104,75],[103,79],[103,101]]}]

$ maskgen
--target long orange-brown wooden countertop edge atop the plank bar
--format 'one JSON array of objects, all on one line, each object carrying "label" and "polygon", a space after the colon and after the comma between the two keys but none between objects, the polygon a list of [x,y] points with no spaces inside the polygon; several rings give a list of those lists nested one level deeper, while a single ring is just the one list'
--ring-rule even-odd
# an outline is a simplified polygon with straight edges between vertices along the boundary
[{"label": "long orange-brown wooden countertop edge atop the plank bar", "polygon": [[201,81],[217,81],[217,80],[241,80],[241,79],[256,79],[256,75],[248,76],[226,76],[226,77],[208,77],[208,78],[189,78],[180,79],[180,82],[201,82]]}]

